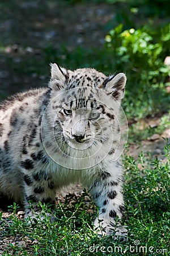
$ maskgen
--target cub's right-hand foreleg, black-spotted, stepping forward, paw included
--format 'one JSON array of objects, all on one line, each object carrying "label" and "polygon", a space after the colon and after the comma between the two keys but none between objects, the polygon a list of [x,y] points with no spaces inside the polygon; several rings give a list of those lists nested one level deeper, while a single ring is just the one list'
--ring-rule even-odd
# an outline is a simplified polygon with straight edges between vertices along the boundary
[{"label": "cub's right-hand foreleg, black-spotted, stepping forward, paw included", "polygon": [[110,236],[115,232],[116,237],[126,241],[128,230],[120,224],[124,212],[121,177],[115,179],[111,172],[102,172],[92,183],[90,192],[99,206],[99,217],[95,220],[97,233]]}]

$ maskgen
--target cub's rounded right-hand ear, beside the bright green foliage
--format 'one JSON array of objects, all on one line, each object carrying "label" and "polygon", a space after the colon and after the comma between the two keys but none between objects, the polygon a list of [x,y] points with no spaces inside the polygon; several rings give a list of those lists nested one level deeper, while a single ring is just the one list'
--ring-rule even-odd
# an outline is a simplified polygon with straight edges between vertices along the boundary
[{"label": "cub's rounded right-hand ear, beside the bright green foliage", "polygon": [[116,100],[120,101],[124,98],[126,85],[126,76],[124,73],[119,73],[116,76],[109,76],[105,84],[105,90],[112,94]]}]

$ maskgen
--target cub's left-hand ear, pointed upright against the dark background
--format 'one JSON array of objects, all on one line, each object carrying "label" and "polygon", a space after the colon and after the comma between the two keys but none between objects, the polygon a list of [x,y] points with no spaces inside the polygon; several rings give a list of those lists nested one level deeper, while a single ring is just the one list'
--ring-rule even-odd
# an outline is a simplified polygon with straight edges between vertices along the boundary
[{"label": "cub's left-hand ear, pointed upright against the dark background", "polygon": [[51,79],[49,82],[49,87],[52,90],[60,90],[65,86],[65,81],[67,79],[67,70],[65,68],[59,67],[58,64],[50,64],[51,69]]}]

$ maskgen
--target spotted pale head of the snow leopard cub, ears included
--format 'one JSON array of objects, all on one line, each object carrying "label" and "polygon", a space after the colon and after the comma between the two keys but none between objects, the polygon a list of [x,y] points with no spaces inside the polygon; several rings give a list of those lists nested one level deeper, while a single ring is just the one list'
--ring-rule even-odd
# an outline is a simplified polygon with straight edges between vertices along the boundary
[{"label": "spotted pale head of the snow leopard cub, ears included", "polygon": [[[118,139],[120,103],[126,76],[105,76],[95,69],[66,70],[52,65],[48,117],[62,151],[89,155]],[[109,151],[108,151],[109,152]]]}]

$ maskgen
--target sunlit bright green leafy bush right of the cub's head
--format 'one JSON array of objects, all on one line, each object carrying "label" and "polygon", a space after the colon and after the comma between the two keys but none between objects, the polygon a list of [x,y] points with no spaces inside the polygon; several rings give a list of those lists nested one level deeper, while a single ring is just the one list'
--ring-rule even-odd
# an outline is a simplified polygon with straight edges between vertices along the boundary
[{"label": "sunlit bright green leafy bush right of the cub's head", "polygon": [[164,44],[169,40],[169,26],[160,29],[156,35],[150,31],[152,30],[148,27],[124,31],[120,24],[105,37],[107,49],[115,60],[117,69],[124,67],[124,72],[128,75],[124,102],[126,113],[138,118],[159,113],[158,102],[162,98],[162,110],[167,109],[169,101],[164,85],[169,68],[163,63],[168,49]]}]

